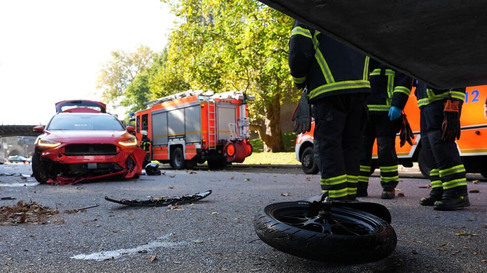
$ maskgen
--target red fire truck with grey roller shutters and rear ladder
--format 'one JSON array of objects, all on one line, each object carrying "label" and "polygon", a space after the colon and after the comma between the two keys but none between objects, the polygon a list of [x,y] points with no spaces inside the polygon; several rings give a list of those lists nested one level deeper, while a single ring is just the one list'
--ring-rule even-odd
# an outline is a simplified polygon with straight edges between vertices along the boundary
[{"label": "red fire truck with grey roller shutters and rear ladder", "polygon": [[146,130],[150,159],[174,169],[191,169],[208,162],[210,169],[242,163],[252,154],[249,108],[254,100],[241,92],[189,90],[160,98],[135,112],[136,137]]}]

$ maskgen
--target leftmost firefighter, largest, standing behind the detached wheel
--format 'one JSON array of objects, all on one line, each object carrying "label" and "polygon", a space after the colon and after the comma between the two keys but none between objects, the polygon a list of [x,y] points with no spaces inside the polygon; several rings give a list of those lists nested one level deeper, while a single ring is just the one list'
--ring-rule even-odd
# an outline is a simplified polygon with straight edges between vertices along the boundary
[{"label": "leftmost firefighter, largest, standing behind the detached wheel", "polygon": [[[294,131],[311,128],[314,106],[321,190],[332,199],[355,199],[360,135],[367,122],[369,59],[299,21],[289,40],[289,67],[304,89],[293,113]],[[306,88],[305,88],[306,87]]]}]

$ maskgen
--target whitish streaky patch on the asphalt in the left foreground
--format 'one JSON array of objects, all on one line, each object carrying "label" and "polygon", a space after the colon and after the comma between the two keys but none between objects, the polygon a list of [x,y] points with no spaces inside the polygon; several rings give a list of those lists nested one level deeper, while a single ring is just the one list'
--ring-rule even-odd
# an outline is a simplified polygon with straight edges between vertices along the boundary
[{"label": "whitish streaky patch on the asphalt in the left foreground", "polygon": [[133,248],[124,248],[124,249],[115,249],[112,251],[102,251],[102,252],[94,252],[91,254],[78,254],[71,259],[76,260],[96,260],[96,261],[103,261],[107,259],[116,259],[119,258],[123,254],[133,255],[137,253],[145,253],[149,251],[153,251],[155,248],[158,247],[167,247],[173,248],[176,246],[187,244],[186,241],[179,241],[179,242],[169,242],[163,241],[168,239],[172,234],[167,234],[161,238],[157,238],[147,244],[139,245]]}]

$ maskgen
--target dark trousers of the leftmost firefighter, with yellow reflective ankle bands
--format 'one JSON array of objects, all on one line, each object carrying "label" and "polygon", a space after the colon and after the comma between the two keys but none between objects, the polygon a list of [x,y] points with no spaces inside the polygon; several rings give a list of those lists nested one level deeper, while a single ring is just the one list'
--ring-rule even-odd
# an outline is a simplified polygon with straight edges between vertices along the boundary
[{"label": "dark trousers of the leftmost firefighter, with yellow reflective ankle bands", "polygon": [[369,94],[324,97],[314,102],[320,185],[333,199],[355,199],[360,139],[368,119]]}]

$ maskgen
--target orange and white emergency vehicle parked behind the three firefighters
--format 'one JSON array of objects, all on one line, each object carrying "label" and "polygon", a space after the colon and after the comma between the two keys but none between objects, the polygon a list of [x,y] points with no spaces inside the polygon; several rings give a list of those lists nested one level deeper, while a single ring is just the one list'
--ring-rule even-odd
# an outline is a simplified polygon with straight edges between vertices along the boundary
[{"label": "orange and white emergency vehicle parked behind the three firefighters", "polygon": [[[467,172],[481,173],[487,178],[487,117],[484,117],[484,104],[487,99],[487,85],[471,86],[466,88],[465,101],[460,117],[461,136],[456,141],[458,151]],[[413,162],[418,162],[419,169],[425,177],[429,177],[430,169],[421,149],[421,136],[419,135],[419,108],[414,88],[404,107],[408,116],[411,129],[414,133],[413,146],[406,144],[400,147],[399,134],[396,137],[396,152],[399,164],[404,167],[413,167]],[[296,139],[296,159],[301,162],[302,169],[307,174],[318,173],[318,167],[313,156],[313,130],[299,134]],[[372,168],[378,168],[377,141],[372,150]]]}]

